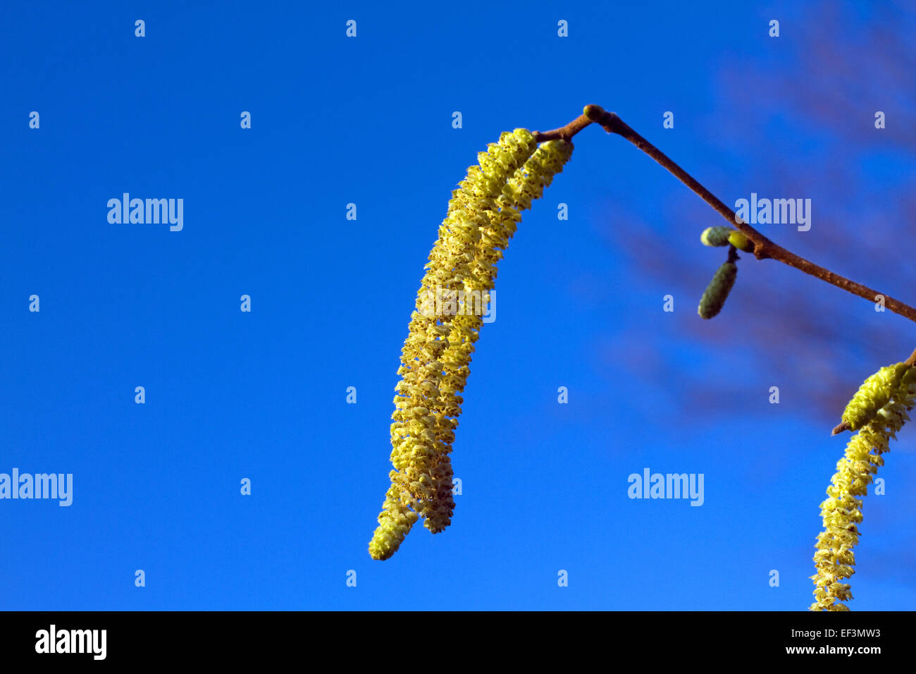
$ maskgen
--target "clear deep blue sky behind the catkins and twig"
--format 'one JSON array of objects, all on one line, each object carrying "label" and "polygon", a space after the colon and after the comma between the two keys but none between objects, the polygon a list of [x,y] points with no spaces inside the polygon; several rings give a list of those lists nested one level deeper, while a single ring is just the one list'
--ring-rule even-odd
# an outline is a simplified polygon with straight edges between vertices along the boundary
[{"label": "clear deep blue sky behind the catkins and twig", "polygon": [[[726,204],[812,198],[810,231],[765,233],[912,304],[913,16],[841,3],[7,5],[0,472],[72,473],[73,503],[0,500],[0,608],[805,608],[843,451],[829,429],[862,380],[910,354],[913,331],[752,256],[703,321],[696,303],[724,255],[699,235],[722,223],[626,141],[585,129],[524,215],[464,392],[453,524],[418,525],[377,562],[366,546],[398,357],[476,153],[588,103]],[[109,223],[122,193],[183,199],[183,228]],[[913,433],[880,473],[887,494],[866,499],[854,610],[916,601]],[[703,505],[627,498],[645,468],[702,473]]]}]

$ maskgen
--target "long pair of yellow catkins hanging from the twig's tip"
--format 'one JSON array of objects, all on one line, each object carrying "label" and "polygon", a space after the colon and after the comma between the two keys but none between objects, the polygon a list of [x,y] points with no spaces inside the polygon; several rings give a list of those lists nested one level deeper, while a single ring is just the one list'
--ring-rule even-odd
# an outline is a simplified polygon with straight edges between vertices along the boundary
[{"label": "long pair of yellow catkins hanging from the twig's tip", "polygon": [[449,455],[496,263],[520,212],[540,197],[572,152],[572,143],[563,140],[538,147],[529,130],[517,128],[479,153],[479,164],[453,192],[401,351],[402,379],[391,417],[395,470],[369,543],[372,558],[391,557],[420,517],[433,534],[451,524]]}]

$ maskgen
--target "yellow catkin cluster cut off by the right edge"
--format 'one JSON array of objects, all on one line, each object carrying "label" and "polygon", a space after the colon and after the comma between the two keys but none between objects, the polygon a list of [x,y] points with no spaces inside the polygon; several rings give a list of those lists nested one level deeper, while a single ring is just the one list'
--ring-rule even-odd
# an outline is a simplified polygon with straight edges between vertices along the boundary
[{"label": "yellow catkin cluster cut off by the right edge", "polygon": [[848,579],[856,572],[853,547],[858,543],[857,525],[862,522],[862,499],[867,494],[889,439],[909,421],[916,406],[916,369],[904,363],[881,368],[859,388],[843,414],[858,433],[849,439],[845,455],[821,503],[823,532],[817,537],[812,611],[848,611],[853,598]]}]

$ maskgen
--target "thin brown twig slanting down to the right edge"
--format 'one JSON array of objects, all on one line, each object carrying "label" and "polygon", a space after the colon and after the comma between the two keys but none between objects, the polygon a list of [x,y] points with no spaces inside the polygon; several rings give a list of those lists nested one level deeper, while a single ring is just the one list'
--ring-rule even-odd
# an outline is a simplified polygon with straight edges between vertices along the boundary
[{"label": "thin brown twig slanting down to the right edge", "polygon": [[[608,133],[616,133],[623,138],[627,138],[627,140],[638,147],[638,149],[641,149],[643,152],[648,154],[649,157],[651,157],[653,160],[658,161],[663,167],[668,169],[668,171],[671,171],[675,178],[687,185],[694,193],[698,194],[704,202],[711,205],[716,213],[722,215],[728,221],[729,225],[741,230],[741,232],[754,243],[754,255],[758,260],[765,260],[768,258],[772,260],[779,260],[780,262],[788,264],[790,267],[804,271],[806,274],[811,274],[815,278],[821,279],[822,281],[832,283],[837,288],[842,288],[846,292],[853,293],[859,297],[863,297],[870,302],[877,302],[878,295],[882,295],[884,297],[884,305],[890,311],[894,312],[895,314],[905,316],[911,321],[916,322],[916,309],[911,307],[909,304],[903,304],[902,302],[895,300],[893,297],[890,297],[887,294],[878,293],[878,291],[872,290],[866,285],[856,283],[855,281],[851,281],[845,278],[845,276],[840,276],[833,271],[824,269],[820,265],[814,264],[812,261],[805,260],[795,253],[792,253],[791,251],[786,250],[770,241],[769,238],[766,238],[760,234],[760,232],[758,232],[754,227],[751,227],[746,222],[736,217],[735,211],[723,204],[718,198],[716,198],[713,193],[703,187],[703,185],[701,185],[699,182],[696,182],[690,173],[684,171],[664,152],[656,148],[648,140],[646,140],[646,138],[643,138],[631,127],[629,127],[626,122],[624,122],[619,116],[616,115],[616,113],[606,112],[605,109],[600,105],[586,105],[584,112],[584,116],[588,117],[596,124],[600,124]],[[578,121],[579,120],[577,119],[576,122]],[[568,127],[572,127],[572,125],[576,122],[573,122],[572,124],[567,125],[566,127],[563,127],[563,129],[559,130],[564,130]]]}]

